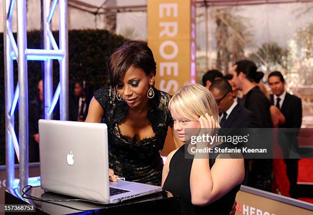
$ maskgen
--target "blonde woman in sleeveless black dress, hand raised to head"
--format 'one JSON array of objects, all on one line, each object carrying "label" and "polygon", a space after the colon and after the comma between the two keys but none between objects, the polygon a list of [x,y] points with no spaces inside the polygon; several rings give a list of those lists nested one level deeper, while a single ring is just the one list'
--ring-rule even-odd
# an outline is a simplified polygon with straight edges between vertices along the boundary
[{"label": "blonde woman in sleeveless black dress, hand raised to head", "polygon": [[[217,104],[202,85],[186,84],[171,98],[168,109],[183,142],[188,141],[186,128],[219,127]],[[182,197],[182,214],[229,214],[244,178],[243,159],[212,159],[210,153],[196,156],[187,159],[185,145],[171,152],[163,168],[163,189]]]}]

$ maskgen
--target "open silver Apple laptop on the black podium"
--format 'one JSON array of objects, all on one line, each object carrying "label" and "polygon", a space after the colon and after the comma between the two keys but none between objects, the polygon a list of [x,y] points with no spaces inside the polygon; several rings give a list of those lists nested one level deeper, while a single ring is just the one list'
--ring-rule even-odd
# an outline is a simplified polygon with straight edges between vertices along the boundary
[{"label": "open silver Apple laptop on the black podium", "polygon": [[106,124],[44,119],[38,124],[42,189],[99,203],[162,191],[159,186],[109,181]]}]

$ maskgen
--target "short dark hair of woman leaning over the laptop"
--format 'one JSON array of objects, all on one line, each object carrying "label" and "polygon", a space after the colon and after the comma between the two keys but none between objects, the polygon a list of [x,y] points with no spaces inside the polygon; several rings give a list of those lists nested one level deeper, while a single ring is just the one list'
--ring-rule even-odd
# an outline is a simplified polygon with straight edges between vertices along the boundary
[{"label": "short dark hair of woman leaning over the laptop", "polygon": [[108,72],[112,86],[116,86],[119,79],[133,66],[142,69],[148,76],[152,72],[155,76],[157,67],[151,49],[142,41],[127,41],[118,48],[108,61]]}]

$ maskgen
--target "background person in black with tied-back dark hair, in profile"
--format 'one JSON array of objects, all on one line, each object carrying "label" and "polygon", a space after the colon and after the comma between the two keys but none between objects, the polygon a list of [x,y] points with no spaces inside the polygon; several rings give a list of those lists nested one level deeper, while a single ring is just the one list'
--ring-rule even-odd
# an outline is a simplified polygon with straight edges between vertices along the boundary
[{"label": "background person in black with tied-back dark hair, in profile", "polygon": [[[240,60],[233,66],[233,81],[236,87],[242,91],[241,105],[252,111],[257,118],[257,126],[260,128],[273,127],[270,113],[270,100],[265,97],[257,85],[264,76],[257,72],[255,63],[250,60]],[[271,159],[256,159],[252,164],[249,185],[262,190],[271,190]]]}]

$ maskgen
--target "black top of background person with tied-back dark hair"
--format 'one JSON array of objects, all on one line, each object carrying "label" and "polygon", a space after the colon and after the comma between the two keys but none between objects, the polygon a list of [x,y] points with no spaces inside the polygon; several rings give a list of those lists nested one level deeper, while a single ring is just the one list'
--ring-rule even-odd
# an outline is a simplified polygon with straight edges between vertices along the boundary
[{"label": "black top of background person with tied-back dark hair", "polygon": [[245,94],[240,103],[255,114],[258,127],[273,127],[270,112],[271,103],[258,86]]}]

